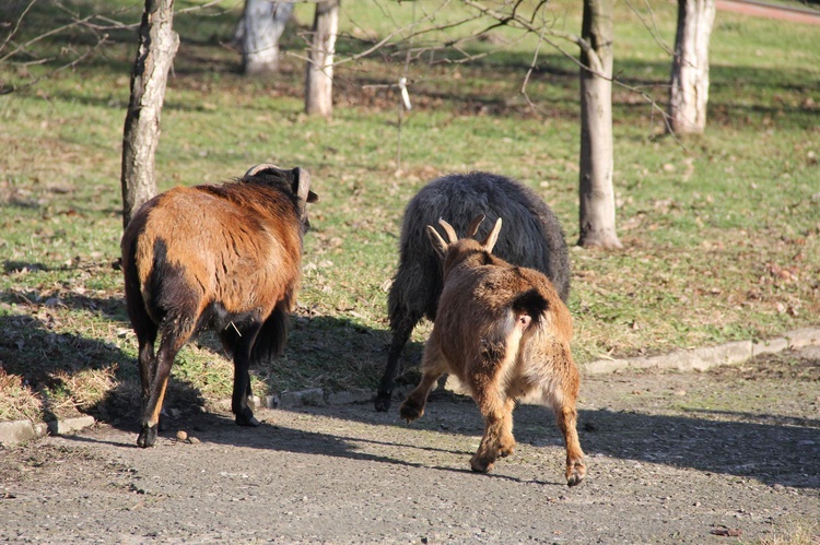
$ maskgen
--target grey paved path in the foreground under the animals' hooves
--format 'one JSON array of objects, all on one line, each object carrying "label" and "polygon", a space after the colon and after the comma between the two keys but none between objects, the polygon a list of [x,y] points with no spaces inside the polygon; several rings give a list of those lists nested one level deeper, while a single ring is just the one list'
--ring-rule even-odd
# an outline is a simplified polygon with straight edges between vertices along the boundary
[{"label": "grey paved path in the foreground under the animals' hooves", "polygon": [[[704,374],[582,386],[589,475],[563,484],[552,417],[520,406],[519,447],[468,471],[469,400],[413,425],[371,404],[180,417],[197,442],[97,425],[0,451],[0,540],[51,543],[729,543],[820,513],[820,349]],[[817,531],[817,529],[816,529]],[[816,534],[817,535],[817,534]]]}]

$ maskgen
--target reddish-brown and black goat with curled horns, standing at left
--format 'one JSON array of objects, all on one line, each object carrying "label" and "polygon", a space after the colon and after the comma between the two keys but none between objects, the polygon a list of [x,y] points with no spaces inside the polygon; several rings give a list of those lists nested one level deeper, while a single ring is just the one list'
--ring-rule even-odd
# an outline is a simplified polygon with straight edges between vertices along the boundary
[{"label": "reddish-brown and black goat with curled horns, standing at left", "polygon": [[317,200],[306,170],[258,165],[222,186],[166,191],[133,216],[122,236],[122,271],[144,405],[137,445],[155,442],[174,357],[208,327],[234,358],[236,424],[259,425],[248,406],[248,368],[284,348],[306,203]]}]

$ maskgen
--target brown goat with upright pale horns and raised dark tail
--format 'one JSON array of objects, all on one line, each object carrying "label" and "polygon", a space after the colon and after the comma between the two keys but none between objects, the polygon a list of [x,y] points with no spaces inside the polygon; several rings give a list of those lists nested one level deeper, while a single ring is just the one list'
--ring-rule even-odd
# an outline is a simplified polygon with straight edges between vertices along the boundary
[{"label": "brown goat with upright pale horns and raised dark tail", "polygon": [[501,218],[482,242],[471,238],[483,218],[473,220],[469,238],[460,240],[440,220],[448,242],[427,226],[444,260],[444,289],[424,345],[421,382],[405,400],[400,415],[407,422],[419,418],[438,377],[454,375],[484,417],[484,435],[470,465],[488,472],[497,457],[515,448],[516,400],[536,394],[555,413],[566,445],[566,484],[575,486],[586,467],[575,429],[579,378],[570,352],[572,317],[543,274],[492,256]]}]

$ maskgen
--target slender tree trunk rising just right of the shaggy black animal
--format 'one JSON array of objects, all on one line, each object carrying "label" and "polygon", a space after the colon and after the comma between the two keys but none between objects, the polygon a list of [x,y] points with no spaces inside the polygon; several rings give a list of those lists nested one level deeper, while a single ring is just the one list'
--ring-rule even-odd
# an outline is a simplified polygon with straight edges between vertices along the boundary
[{"label": "slender tree trunk rising just right of the shaggy black animal", "polygon": [[622,248],[612,189],[612,0],[584,0],[578,246]]}]

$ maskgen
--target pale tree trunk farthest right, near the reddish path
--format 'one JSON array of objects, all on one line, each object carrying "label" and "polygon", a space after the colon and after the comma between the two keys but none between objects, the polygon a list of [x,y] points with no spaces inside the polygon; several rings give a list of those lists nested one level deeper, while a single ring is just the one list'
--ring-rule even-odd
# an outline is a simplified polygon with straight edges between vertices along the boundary
[{"label": "pale tree trunk farthest right, near the reddish path", "polygon": [[708,103],[708,43],[715,0],[678,0],[669,91],[669,127],[677,134],[701,134]]}]

